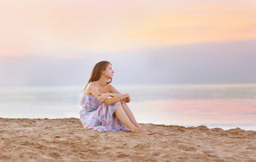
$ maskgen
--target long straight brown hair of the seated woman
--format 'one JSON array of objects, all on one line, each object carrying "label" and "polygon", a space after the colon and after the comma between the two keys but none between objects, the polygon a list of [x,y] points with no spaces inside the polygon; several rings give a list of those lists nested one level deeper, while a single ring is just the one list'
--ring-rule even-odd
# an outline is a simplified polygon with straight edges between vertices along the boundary
[{"label": "long straight brown hair of the seated woman", "polygon": [[[110,63],[109,61],[99,61],[98,63],[95,64],[95,66],[93,67],[93,71],[91,72],[90,79],[88,80],[86,86],[82,90],[82,94],[84,94],[84,91],[90,82],[99,80],[99,78],[101,77],[101,72],[107,68],[107,65],[109,63]],[[111,65],[111,63],[110,63],[110,65]],[[110,79],[110,81],[107,82],[107,84],[109,84],[111,82],[112,82],[112,79]]]}]

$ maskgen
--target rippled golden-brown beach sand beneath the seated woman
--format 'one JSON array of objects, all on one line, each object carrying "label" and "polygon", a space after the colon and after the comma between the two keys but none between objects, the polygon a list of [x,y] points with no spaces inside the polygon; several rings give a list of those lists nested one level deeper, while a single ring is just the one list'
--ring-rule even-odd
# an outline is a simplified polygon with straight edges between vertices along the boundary
[{"label": "rippled golden-brown beach sand beneath the seated woman", "polygon": [[256,131],[140,124],[151,136],[79,119],[0,118],[0,161],[256,161]]}]

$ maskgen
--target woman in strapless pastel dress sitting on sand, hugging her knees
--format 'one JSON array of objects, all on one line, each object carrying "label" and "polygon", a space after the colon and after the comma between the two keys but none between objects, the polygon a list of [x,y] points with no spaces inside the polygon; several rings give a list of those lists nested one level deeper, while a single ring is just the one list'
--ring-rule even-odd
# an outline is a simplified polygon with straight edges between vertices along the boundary
[{"label": "woman in strapless pastel dress sitting on sand, hugging her knees", "polygon": [[80,121],[84,128],[99,132],[131,130],[135,134],[149,134],[140,128],[126,104],[130,102],[129,94],[121,94],[109,84],[113,73],[109,61],[100,61],[94,66],[80,102]]}]

